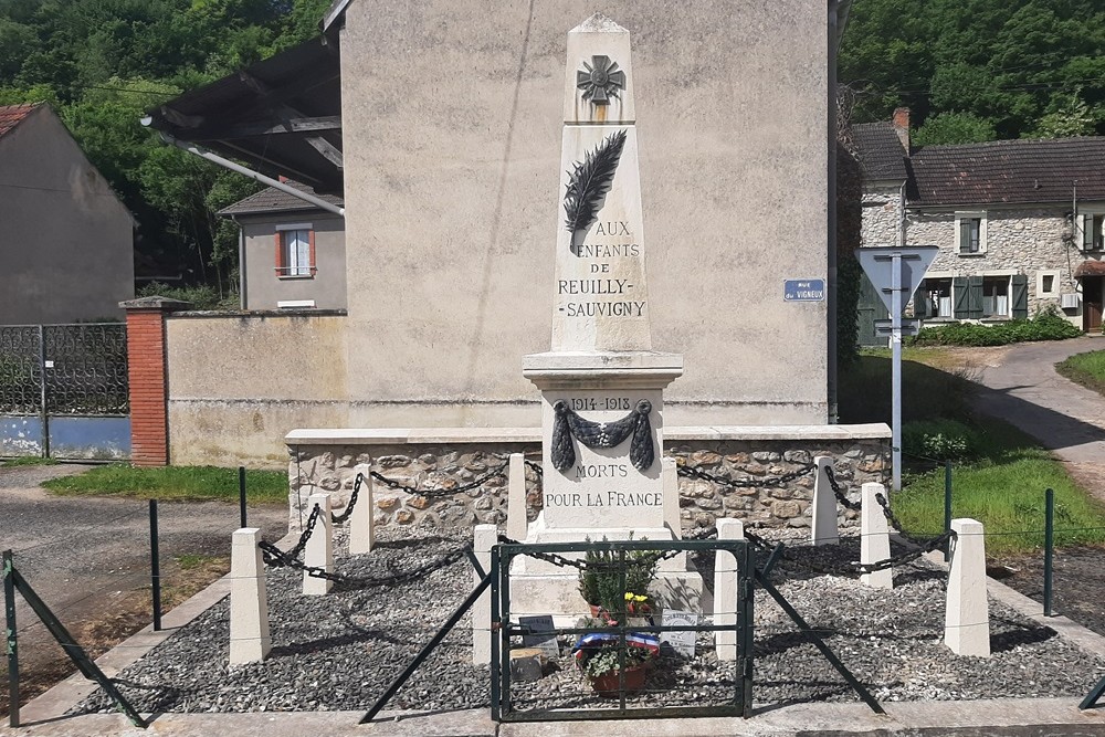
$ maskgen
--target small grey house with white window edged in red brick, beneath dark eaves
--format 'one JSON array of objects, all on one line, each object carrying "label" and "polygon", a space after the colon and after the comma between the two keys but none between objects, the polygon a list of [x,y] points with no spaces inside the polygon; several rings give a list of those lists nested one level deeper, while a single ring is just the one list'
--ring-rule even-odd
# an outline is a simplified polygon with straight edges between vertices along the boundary
[{"label": "small grey house with white window edged in red brick, beneath dark eaves", "polygon": [[[287,182],[307,191],[305,185]],[[340,198],[323,194],[340,207]],[[219,211],[241,229],[242,309],[345,309],[345,220],[270,187]]]}]

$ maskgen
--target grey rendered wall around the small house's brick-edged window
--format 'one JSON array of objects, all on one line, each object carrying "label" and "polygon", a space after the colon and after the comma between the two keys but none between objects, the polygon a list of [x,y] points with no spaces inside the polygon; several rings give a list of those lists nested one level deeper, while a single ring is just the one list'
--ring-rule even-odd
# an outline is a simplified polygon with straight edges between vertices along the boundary
[{"label": "grey rendered wall around the small house's brick-edged window", "polygon": [[[277,309],[278,302],[313,299],[318,309],[345,309],[345,220],[328,212],[238,215],[245,238],[243,309]],[[315,231],[315,274],[276,274],[276,225],[303,223]]]}]

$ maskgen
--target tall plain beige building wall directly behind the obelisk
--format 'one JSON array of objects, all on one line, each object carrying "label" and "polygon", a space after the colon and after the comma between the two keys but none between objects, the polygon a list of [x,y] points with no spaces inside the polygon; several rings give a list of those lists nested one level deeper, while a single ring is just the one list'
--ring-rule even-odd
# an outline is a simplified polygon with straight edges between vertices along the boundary
[{"label": "tall plain beige building wall directly behind the obelisk", "polygon": [[[351,427],[536,427],[567,32],[583,0],[349,6],[341,38]],[[669,424],[823,423],[824,3],[612,0],[632,33]]]}]

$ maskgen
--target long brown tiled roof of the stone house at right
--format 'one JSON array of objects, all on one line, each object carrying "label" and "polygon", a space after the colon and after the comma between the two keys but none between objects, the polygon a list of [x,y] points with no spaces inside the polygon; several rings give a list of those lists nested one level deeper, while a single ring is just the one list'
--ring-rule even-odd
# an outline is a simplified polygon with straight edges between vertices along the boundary
[{"label": "long brown tiled roof of the stone house at right", "polygon": [[926,146],[909,159],[911,204],[1105,199],[1105,137]]}]

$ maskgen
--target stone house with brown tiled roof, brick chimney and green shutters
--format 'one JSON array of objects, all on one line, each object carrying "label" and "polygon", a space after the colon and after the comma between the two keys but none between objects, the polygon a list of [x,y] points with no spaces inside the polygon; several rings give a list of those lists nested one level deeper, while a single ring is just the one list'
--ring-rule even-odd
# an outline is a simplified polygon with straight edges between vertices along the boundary
[{"label": "stone house with brown tiled roof, brick chimney and green shutters", "polygon": [[926,322],[1029,317],[1102,326],[1105,138],[909,146],[909,114],[854,126],[861,244],[937,245],[914,294]]}]

